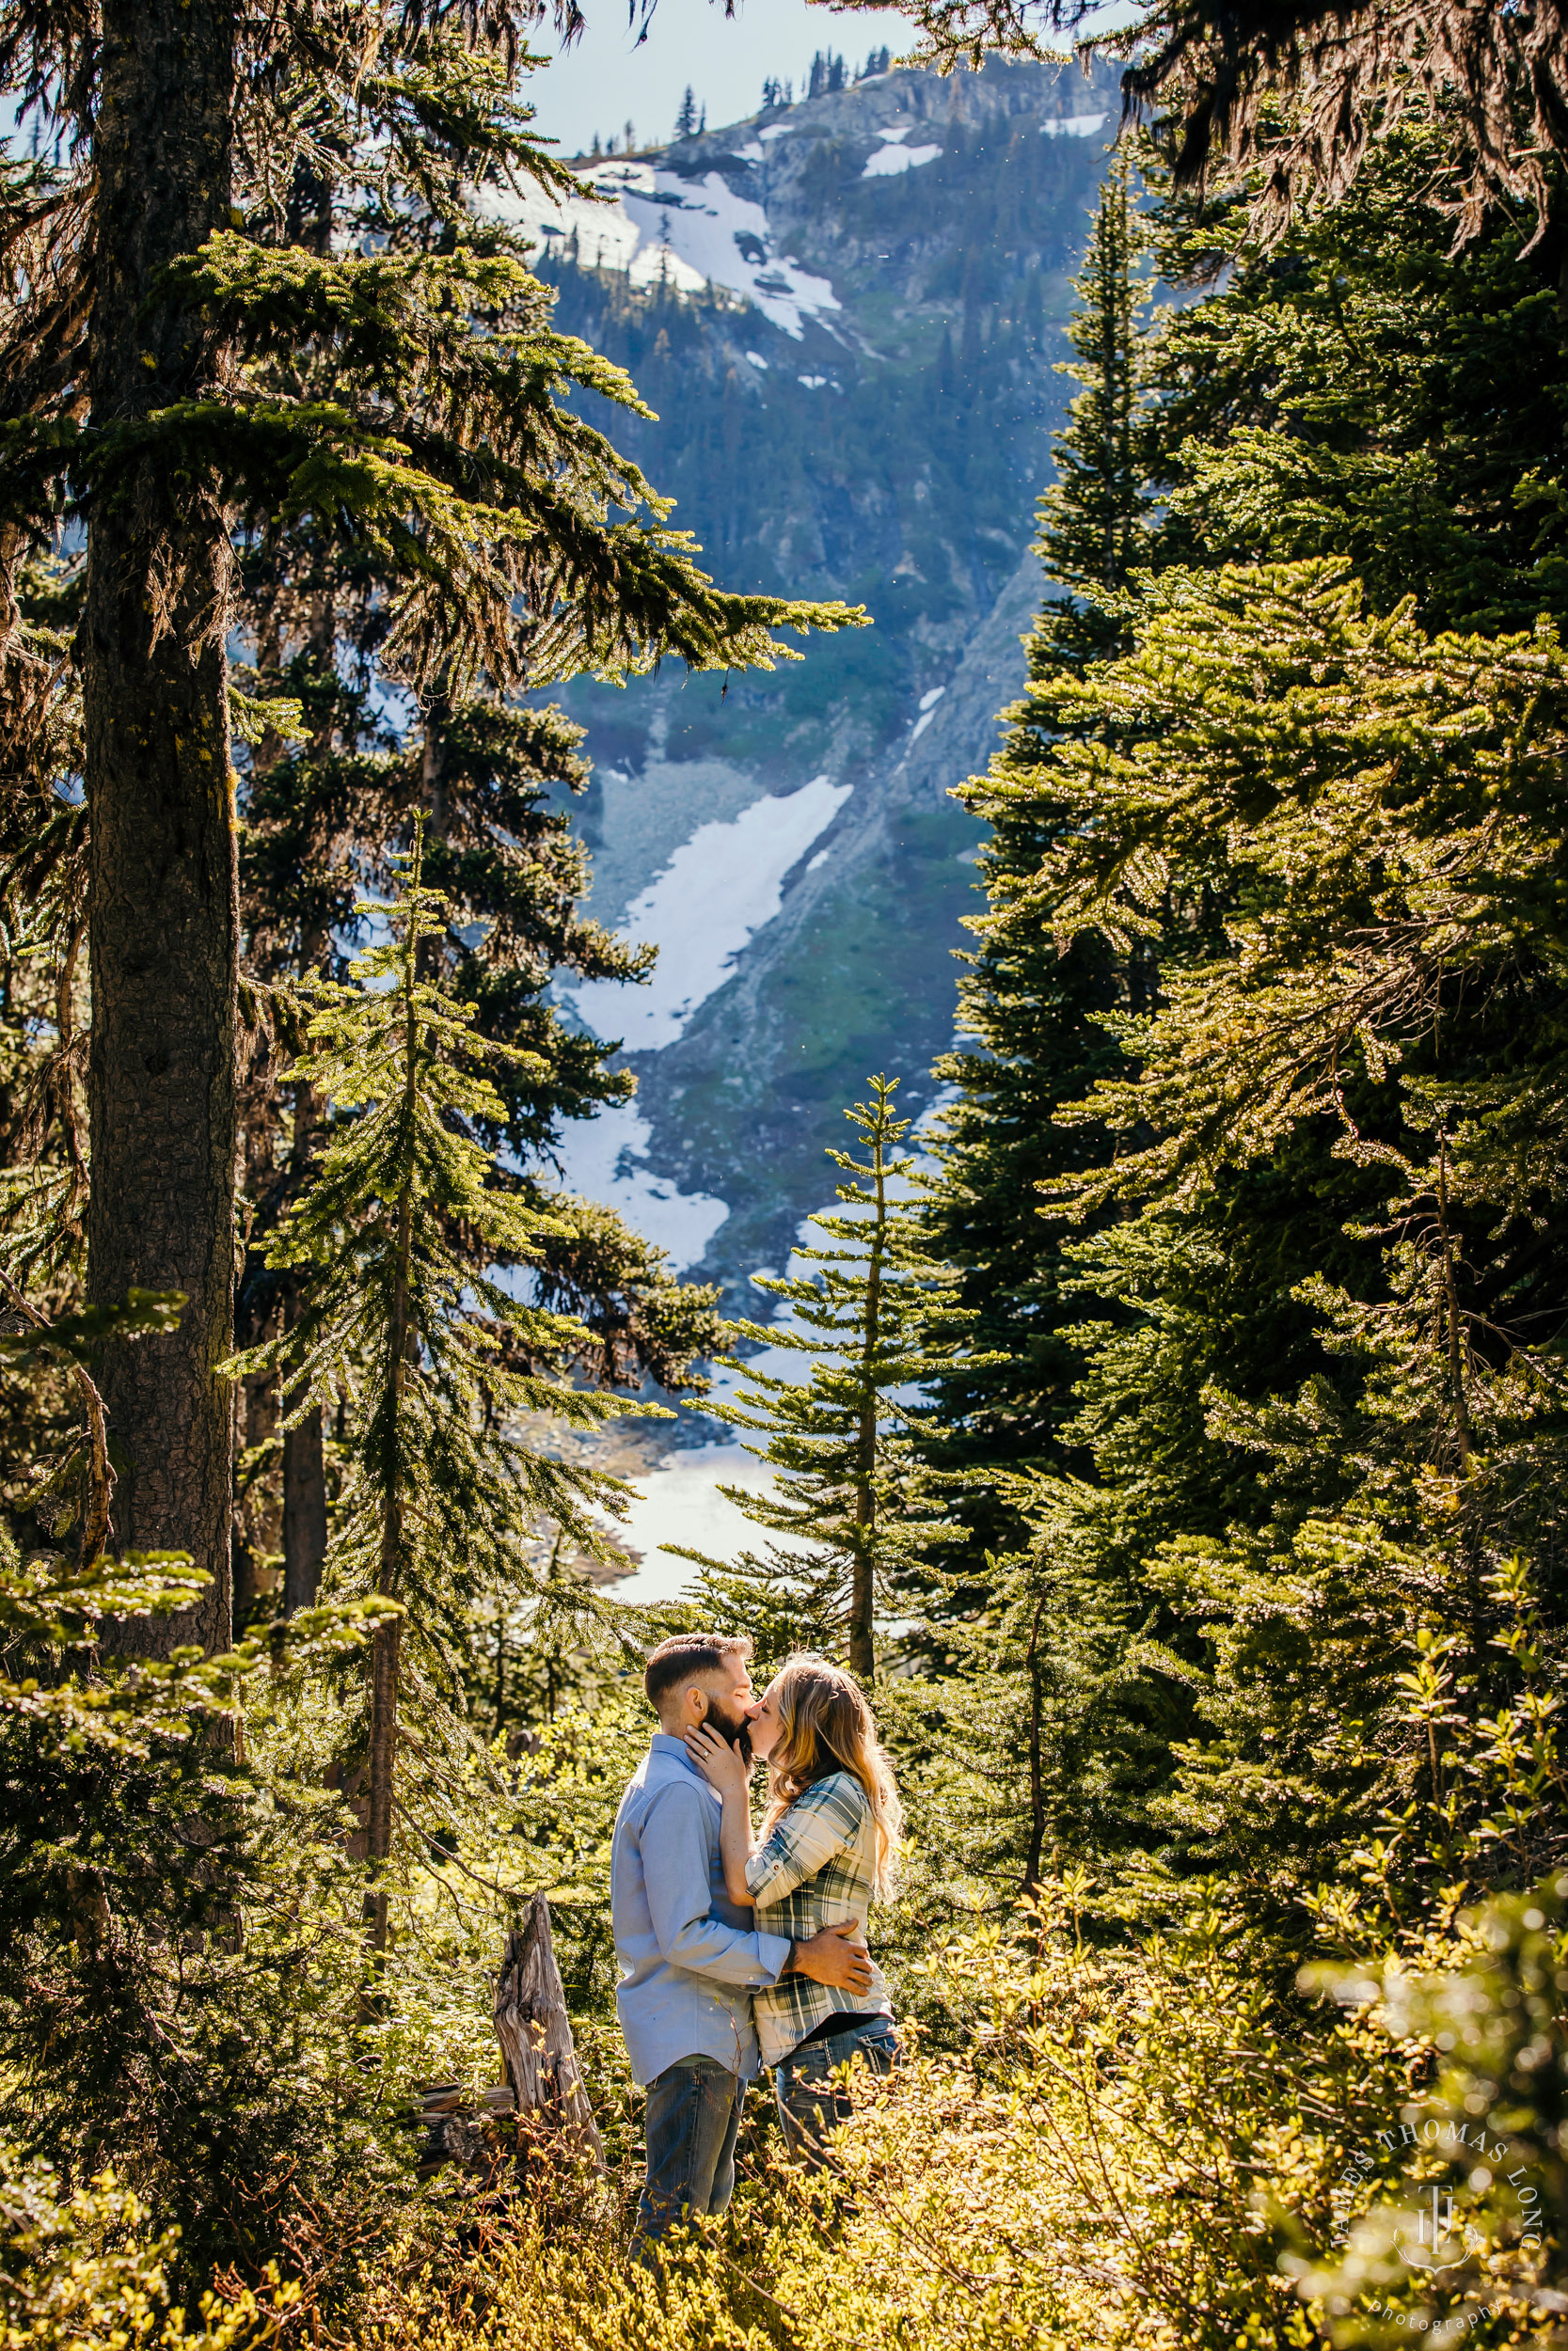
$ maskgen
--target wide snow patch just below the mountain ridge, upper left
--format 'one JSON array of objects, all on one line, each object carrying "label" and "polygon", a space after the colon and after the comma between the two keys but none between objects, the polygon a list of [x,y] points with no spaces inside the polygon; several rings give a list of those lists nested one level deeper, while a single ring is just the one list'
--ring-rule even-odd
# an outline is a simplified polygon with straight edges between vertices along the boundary
[{"label": "wide snow patch just below the mountain ridge, upper left", "polygon": [[722,172],[696,188],[661,165],[616,158],[583,176],[614,202],[529,186],[491,197],[494,214],[545,247],[576,242],[583,268],[625,270],[635,287],[661,277],[677,294],[726,287],[797,341],[809,317],[842,308],[827,277],[773,256],[766,212]]}]

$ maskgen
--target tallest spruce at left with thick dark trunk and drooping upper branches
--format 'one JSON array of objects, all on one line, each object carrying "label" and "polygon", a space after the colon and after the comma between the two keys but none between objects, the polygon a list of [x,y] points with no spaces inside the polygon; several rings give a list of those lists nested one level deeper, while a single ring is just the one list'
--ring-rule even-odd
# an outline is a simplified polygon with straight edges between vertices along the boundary
[{"label": "tallest spruce at left with thick dark trunk and drooping upper branches", "polygon": [[230,1613],[237,550],[266,541],[296,576],[322,548],[374,560],[376,668],[418,694],[771,661],[776,623],[849,618],[715,592],[642,475],[557,407],[567,386],[635,395],[550,331],[484,219],[517,174],[564,179],[520,101],[529,21],[414,0],[0,9],[0,75],[71,155],[5,195],[28,268],[0,353],[0,611],[16,769],[54,797],[59,691],[28,689],[16,585],[63,501],[87,524],[87,1288],[190,1300],[108,1394],[115,1540],[183,1545],[212,1575],[162,1641],[221,1643]]}]

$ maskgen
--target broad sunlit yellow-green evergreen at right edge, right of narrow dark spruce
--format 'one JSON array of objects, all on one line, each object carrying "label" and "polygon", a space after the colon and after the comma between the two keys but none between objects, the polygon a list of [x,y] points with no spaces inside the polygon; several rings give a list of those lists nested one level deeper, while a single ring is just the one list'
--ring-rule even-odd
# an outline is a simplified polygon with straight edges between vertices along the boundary
[{"label": "broad sunlit yellow-green evergreen at right edge, right of narrow dark spruce", "polygon": [[1107,1594],[1159,1606],[1192,1695],[1152,1838],[1246,1878],[1260,1921],[1425,1768],[1410,1622],[1479,1714],[1500,1563],[1568,1610],[1535,1335],[1563,1279],[1566,686],[1544,625],[1432,639],[1345,564],[1171,574],[1053,755],[1053,922],[1164,926],[1173,877],[1227,907],[1138,1063],[1067,1112],[1121,1138],[1058,1197],[1121,1208],[1072,1258],[1126,1319],[1079,1333],[1067,1434],[1105,1491],[1041,1498],[1058,1549],[1077,1528]]}]

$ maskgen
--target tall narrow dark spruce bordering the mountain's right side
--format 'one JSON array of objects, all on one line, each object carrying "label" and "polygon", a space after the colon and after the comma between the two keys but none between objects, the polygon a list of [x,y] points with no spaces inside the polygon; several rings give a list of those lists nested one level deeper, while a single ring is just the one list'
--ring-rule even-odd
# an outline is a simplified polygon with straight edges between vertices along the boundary
[{"label": "tall narrow dark spruce bordering the mountain's right side", "polygon": [[[1056,1121],[1119,1056],[1105,1016],[1143,1004],[1147,959],[1088,933],[1060,938],[1051,919],[1006,924],[1006,910],[1046,865],[1067,820],[1051,792],[1053,743],[1072,724],[1063,694],[1126,637],[1131,571],[1147,557],[1150,494],[1140,313],[1147,235],[1133,172],[1117,153],[1074,280],[1063,362],[1081,390],[1056,444],[1058,477],[1039,505],[1037,541],[1058,595],[1030,637],[1030,684],[1006,712],[1006,738],[985,776],[957,797],[987,820],[980,851],[987,915],[969,917],[980,945],[959,985],[959,1030],[976,1039],[938,1063],[959,1089],[938,1126],[940,1183],[929,1206],[931,1248],[964,1274],[978,1352],[938,1378],[938,1458],[947,1467],[1060,1462],[1079,1354],[1065,1338],[1077,1310],[1060,1293],[1060,1234],[1044,1220],[1041,1183],[1084,1164],[1091,1138]],[[1001,922],[997,919],[1001,917]],[[973,1486],[985,1545],[1020,1535],[1004,1493]]]}]

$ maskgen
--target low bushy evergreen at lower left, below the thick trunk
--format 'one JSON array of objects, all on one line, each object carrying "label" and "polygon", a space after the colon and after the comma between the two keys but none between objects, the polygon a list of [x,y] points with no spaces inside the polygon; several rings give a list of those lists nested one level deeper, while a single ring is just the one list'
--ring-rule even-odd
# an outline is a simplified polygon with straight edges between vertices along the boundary
[{"label": "low bushy evergreen at lower left, below the thick trunk", "polygon": [[[7,2137],[75,2177],[113,2144],[195,2302],[214,2269],[261,2273],[280,2182],[294,2210],[341,2198],[360,2229],[393,2226],[411,2083],[364,2031],[350,1822],[299,1747],[280,1770],[254,1747],[266,1693],[331,1669],[383,1608],[313,1610],[216,1660],[106,1657],[136,1613],[186,1615],[193,1585],[179,1561],[82,1570],[0,1545]],[[327,2248],[308,2262],[317,2297],[348,2285]]]}]

